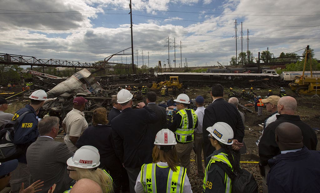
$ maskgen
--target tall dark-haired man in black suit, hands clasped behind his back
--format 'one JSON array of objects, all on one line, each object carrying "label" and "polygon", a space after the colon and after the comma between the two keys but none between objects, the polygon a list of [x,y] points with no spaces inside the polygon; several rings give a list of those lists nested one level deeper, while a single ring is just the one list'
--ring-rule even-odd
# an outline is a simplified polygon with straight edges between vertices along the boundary
[{"label": "tall dark-haired man in black suit, hands clasped behind his back", "polygon": [[234,133],[234,140],[232,144],[233,150],[238,152],[243,146],[242,139],[244,137],[244,124],[242,122],[240,113],[234,104],[223,100],[223,94],[223,86],[221,84],[214,84],[210,92],[213,102],[204,110],[202,129],[205,158],[214,151],[214,148],[212,147],[208,138],[209,132],[206,130],[206,128],[212,127],[216,122],[225,122],[231,126]]}]

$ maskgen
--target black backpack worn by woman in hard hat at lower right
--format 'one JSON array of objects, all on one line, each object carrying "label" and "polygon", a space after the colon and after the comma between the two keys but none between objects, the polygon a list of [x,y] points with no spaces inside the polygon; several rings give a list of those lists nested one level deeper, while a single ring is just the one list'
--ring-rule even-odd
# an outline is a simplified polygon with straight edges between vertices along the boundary
[{"label": "black backpack worn by woman in hard hat at lower right", "polygon": [[231,168],[222,162],[215,162],[231,179],[232,193],[257,193],[258,184],[252,174],[245,169],[236,169],[234,172]]}]

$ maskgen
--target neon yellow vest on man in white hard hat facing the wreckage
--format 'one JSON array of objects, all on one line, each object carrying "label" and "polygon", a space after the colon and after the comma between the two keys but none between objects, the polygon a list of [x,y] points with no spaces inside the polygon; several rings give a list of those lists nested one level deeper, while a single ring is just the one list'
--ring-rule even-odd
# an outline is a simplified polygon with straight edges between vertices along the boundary
[{"label": "neon yellow vest on man in white hard hat facing the wreckage", "polygon": [[[193,116],[192,128],[188,128],[189,127],[189,119],[188,119],[187,111],[190,111]],[[186,142],[193,141],[193,138],[194,138],[193,131],[196,127],[196,122],[198,119],[195,111],[193,109],[181,109],[177,113],[179,113],[181,115],[180,127],[177,128],[177,130],[174,132],[178,142],[186,143]],[[189,136],[189,135],[192,135],[192,139],[190,141],[187,141],[187,136]]]}]

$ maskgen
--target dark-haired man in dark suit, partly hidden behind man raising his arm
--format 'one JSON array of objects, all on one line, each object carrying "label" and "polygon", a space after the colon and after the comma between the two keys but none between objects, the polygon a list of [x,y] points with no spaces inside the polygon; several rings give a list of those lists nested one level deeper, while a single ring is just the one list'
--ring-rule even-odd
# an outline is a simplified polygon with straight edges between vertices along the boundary
[{"label": "dark-haired man in dark suit, partly hidden behind man raising his arm", "polygon": [[157,100],[157,94],[155,92],[147,92],[147,106],[149,109],[154,111],[158,117],[156,123],[151,123],[149,124],[148,131],[151,134],[151,139],[156,137],[156,134],[158,131],[160,131],[163,128],[166,128],[166,114],[165,114],[165,108],[161,107],[159,105],[156,105],[156,100]]}]

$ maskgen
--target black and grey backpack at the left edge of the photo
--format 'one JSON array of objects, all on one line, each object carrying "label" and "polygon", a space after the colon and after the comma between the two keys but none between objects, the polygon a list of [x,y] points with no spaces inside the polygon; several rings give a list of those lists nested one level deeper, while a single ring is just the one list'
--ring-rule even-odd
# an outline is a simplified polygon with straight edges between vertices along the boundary
[{"label": "black and grey backpack at the left edge of the photo", "polygon": [[21,148],[13,143],[14,133],[19,121],[29,113],[22,113],[17,119],[9,121],[0,126],[0,160],[1,162],[15,159],[21,154]]}]

